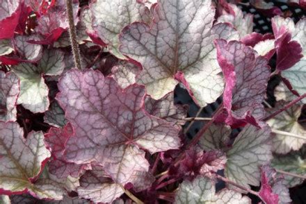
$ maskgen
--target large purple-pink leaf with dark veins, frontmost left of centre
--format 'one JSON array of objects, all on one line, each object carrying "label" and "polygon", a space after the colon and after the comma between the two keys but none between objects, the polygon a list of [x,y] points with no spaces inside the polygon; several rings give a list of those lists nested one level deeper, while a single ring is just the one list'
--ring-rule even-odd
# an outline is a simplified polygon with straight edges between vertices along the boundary
[{"label": "large purple-pink leaf with dark veins, frontmost left of centre", "polygon": [[115,182],[135,185],[150,166],[143,149],[155,153],[180,146],[179,129],[144,110],[143,85],[122,90],[99,71],[72,69],[58,88],[58,102],[75,130],[66,144],[67,161],[94,162]]}]

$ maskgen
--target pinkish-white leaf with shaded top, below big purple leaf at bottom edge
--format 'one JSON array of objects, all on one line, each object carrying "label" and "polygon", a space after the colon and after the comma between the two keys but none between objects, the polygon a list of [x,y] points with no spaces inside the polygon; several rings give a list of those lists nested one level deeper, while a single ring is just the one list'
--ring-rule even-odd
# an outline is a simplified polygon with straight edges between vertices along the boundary
[{"label": "pinkish-white leaf with shaded top, below big purple leaf at bottom edge", "polygon": [[119,184],[110,178],[97,177],[90,171],[81,177],[80,182],[81,187],[77,189],[79,196],[95,203],[111,203],[124,194]]}]

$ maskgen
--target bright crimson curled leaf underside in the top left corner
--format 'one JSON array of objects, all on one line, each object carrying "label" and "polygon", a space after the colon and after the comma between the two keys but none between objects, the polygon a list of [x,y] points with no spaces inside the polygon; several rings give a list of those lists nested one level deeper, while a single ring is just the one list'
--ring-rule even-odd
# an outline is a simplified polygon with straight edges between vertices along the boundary
[{"label": "bright crimson curled leaf underside in the top left corner", "polygon": [[14,36],[20,12],[21,3],[19,0],[3,0],[0,2],[0,39]]}]

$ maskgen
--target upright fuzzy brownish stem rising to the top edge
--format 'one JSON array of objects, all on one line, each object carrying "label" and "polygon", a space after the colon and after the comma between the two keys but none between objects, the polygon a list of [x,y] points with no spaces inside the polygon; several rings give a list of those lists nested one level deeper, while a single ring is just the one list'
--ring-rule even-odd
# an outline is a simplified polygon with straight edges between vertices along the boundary
[{"label": "upright fuzzy brownish stem rising to the top edge", "polygon": [[77,42],[77,31],[76,31],[76,28],[74,26],[72,0],[66,0],[66,10],[67,10],[67,19],[68,19],[68,23],[69,23],[69,35],[70,35],[70,42],[71,42],[71,46],[72,46],[74,65],[78,69],[82,69],[82,67],[81,67],[81,54],[80,54],[80,50],[79,50],[79,44]]}]

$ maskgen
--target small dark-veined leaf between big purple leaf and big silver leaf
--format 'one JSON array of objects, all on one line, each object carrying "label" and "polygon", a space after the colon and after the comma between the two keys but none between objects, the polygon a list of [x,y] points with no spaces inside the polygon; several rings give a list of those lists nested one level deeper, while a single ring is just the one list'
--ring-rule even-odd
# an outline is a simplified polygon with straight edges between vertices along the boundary
[{"label": "small dark-veined leaf between big purple leaf and big silver leaf", "polygon": [[185,124],[184,118],[187,115],[187,109],[183,105],[174,103],[174,93],[170,92],[159,100],[154,100],[150,96],[145,98],[145,110],[150,114],[164,119],[177,128],[182,128]]}]

